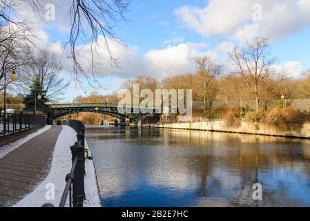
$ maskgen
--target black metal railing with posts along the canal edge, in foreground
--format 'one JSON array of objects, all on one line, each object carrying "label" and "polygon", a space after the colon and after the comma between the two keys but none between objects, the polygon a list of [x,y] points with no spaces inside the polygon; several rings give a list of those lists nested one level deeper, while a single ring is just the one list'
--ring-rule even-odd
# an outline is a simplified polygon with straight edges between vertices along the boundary
[{"label": "black metal railing with posts along the canal edge, in foreground", "polygon": [[[65,207],[69,197],[70,207],[83,207],[85,200],[84,175],[85,175],[85,126],[82,122],[70,119],[69,126],[77,132],[77,142],[70,146],[72,153],[72,167],[66,175],[66,186],[61,196],[59,207]],[[52,204],[44,204],[51,207]]]}]

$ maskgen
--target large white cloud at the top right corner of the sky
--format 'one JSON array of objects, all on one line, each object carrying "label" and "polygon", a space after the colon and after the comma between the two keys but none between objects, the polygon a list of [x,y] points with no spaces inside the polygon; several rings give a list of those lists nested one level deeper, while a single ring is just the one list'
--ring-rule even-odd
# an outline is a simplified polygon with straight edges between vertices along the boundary
[{"label": "large white cloud at the top right corner of the sky", "polygon": [[[253,21],[255,4],[262,20]],[[244,41],[256,36],[277,40],[310,25],[309,0],[210,0],[205,8],[183,6],[175,14],[204,36],[220,35]]]}]

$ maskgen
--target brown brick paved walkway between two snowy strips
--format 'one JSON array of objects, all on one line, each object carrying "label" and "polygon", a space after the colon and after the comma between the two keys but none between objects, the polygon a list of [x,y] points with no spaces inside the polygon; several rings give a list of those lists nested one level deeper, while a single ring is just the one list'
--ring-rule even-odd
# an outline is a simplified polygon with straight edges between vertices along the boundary
[{"label": "brown brick paved walkway between two snowy strips", "polygon": [[61,130],[52,126],[0,159],[0,206],[14,205],[46,178]]}]

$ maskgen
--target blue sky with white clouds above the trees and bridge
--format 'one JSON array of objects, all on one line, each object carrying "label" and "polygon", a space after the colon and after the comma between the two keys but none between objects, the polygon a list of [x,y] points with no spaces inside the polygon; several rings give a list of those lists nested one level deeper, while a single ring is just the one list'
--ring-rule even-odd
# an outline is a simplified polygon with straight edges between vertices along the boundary
[{"label": "blue sky with white clouds above the trees and bridge", "polygon": [[[260,21],[251,21],[257,12],[255,3],[262,6]],[[111,47],[120,57],[122,70],[106,64],[101,74],[105,77],[102,85],[108,90],[99,93],[118,90],[126,77],[144,74],[162,79],[195,71],[192,58],[196,55],[211,55],[225,64],[229,49],[259,35],[270,39],[272,52],[279,59],[277,65],[300,77],[310,68],[308,6],[307,0],[133,0],[126,14],[128,21],[115,26],[116,36],[128,47]],[[59,10],[63,10],[61,6],[56,16]],[[57,21],[41,30],[48,35],[51,47],[68,39],[68,32],[60,30]],[[69,79],[69,75],[64,76]],[[85,88],[87,94],[97,91]],[[71,102],[77,95],[85,94],[71,86],[64,101]]]}]

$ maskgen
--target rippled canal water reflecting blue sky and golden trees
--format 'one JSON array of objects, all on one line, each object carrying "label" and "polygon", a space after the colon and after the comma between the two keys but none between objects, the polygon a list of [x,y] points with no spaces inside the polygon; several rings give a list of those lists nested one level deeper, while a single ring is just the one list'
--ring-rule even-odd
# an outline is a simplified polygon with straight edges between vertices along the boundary
[{"label": "rippled canal water reflecting blue sky and golden trees", "polygon": [[309,140],[115,126],[86,139],[103,206],[310,206]]}]

